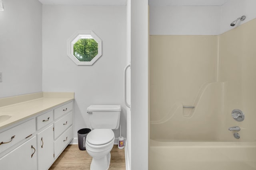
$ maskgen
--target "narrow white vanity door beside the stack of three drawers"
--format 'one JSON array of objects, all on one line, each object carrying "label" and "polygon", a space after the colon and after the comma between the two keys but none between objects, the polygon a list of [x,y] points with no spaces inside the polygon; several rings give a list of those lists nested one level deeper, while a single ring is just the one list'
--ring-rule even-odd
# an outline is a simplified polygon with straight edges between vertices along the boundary
[{"label": "narrow white vanity door beside the stack of three drawers", "polygon": [[47,170],[54,161],[53,125],[37,135],[38,170]]}]

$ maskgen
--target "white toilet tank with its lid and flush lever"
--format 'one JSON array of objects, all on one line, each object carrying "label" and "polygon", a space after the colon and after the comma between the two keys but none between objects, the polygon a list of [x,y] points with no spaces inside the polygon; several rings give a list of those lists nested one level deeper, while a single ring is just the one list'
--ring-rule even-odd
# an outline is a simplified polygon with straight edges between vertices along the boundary
[{"label": "white toilet tank with its lid and flush lever", "polygon": [[90,129],[118,129],[120,105],[91,105],[87,107]]}]

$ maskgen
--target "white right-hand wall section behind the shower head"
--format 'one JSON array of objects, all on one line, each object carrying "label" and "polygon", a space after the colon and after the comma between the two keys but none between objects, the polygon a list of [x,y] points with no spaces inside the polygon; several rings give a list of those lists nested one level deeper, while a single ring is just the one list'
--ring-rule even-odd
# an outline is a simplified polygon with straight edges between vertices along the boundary
[{"label": "white right-hand wall section behind the shower head", "polygon": [[[221,33],[238,27],[256,18],[256,0],[229,0],[221,7]],[[244,21],[238,21],[234,27],[230,23],[241,16],[246,16]]]}]

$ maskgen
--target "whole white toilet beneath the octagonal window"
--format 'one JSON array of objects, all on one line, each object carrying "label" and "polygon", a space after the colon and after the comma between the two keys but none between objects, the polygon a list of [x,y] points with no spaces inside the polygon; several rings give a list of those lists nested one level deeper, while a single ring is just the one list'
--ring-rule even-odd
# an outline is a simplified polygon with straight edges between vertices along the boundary
[{"label": "whole white toilet beneath the octagonal window", "polygon": [[87,108],[90,129],[85,141],[86,151],[92,156],[91,170],[108,170],[110,151],[120,123],[120,105],[91,105]]}]

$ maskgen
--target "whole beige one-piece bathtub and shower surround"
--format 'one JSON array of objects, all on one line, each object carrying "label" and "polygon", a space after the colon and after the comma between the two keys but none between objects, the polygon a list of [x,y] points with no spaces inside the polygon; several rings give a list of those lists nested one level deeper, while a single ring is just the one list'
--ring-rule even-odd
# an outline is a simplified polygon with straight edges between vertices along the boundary
[{"label": "whole beige one-piece bathtub and shower surround", "polygon": [[256,19],[221,35],[150,36],[152,170],[256,169],[255,30]]}]

